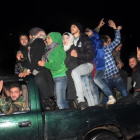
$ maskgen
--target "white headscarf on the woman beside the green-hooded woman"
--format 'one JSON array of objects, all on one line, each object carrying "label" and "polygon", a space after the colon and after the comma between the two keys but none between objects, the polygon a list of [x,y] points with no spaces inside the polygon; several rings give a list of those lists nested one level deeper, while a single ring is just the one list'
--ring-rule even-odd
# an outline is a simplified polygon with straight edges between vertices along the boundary
[{"label": "white headscarf on the woman beside the green-hooded woman", "polygon": [[73,36],[71,33],[68,33],[68,32],[65,32],[62,36],[64,36],[64,35],[68,35],[68,36],[70,37],[70,42],[69,42],[69,44],[68,44],[68,45],[64,45],[64,44],[63,44],[63,46],[64,46],[64,51],[66,52],[67,50],[70,49],[71,45],[74,44],[74,36]]}]

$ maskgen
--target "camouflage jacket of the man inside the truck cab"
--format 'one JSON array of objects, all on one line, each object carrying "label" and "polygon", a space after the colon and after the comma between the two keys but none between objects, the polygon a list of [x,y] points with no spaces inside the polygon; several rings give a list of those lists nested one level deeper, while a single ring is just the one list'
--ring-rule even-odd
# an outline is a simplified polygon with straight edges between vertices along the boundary
[{"label": "camouflage jacket of the man inside the truck cab", "polygon": [[23,96],[20,96],[19,99],[16,101],[12,101],[10,97],[2,96],[0,98],[0,110],[7,115],[25,109],[26,103],[25,98]]}]

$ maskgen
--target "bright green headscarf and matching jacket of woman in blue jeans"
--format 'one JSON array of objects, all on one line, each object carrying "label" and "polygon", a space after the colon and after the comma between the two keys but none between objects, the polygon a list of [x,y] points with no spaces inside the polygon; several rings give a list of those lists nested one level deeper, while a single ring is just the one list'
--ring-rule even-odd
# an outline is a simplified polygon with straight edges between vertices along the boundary
[{"label": "bright green headscarf and matching jacket of woman in blue jeans", "polygon": [[51,32],[48,34],[52,43],[59,43],[49,54],[49,61],[44,66],[50,69],[53,78],[66,76],[66,65],[64,63],[66,59],[66,53],[64,52],[62,45],[62,36],[59,32]]}]

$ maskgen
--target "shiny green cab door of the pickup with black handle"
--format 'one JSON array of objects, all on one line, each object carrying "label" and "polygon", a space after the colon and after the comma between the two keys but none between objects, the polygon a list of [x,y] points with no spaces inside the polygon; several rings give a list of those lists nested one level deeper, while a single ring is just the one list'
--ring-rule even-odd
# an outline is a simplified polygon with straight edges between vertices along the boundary
[{"label": "shiny green cab door of the pickup with black handle", "polygon": [[37,103],[39,95],[33,83],[28,83],[28,87],[27,110],[11,115],[0,113],[0,140],[43,140],[42,114]]}]

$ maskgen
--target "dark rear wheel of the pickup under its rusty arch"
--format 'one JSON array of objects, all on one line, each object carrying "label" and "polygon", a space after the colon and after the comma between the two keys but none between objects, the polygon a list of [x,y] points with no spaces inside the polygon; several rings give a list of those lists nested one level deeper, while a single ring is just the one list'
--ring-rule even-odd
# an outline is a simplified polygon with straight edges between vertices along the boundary
[{"label": "dark rear wheel of the pickup under its rusty arch", "polygon": [[85,140],[119,140],[116,134],[108,130],[101,130],[89,134]]}]

